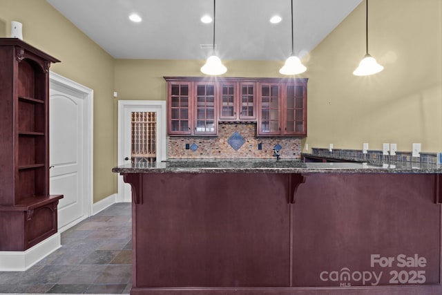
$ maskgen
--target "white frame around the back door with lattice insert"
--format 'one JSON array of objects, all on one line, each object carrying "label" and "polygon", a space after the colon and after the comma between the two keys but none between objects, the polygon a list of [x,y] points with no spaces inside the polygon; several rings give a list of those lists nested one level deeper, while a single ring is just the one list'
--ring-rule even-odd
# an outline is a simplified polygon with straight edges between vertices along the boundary
[{"label": "white frame around the back door with lattice insert", "polygon": [[[157,161],[167,160],[166,144],[166,101],[165,100],[119,100],[118,101],[118,165],[124,164],[124,113],[127,108],[155,108],[160,113],[160,121],[157,122],[157,151],[160,151],[160,158]],[[118,196],[117,202],[131,202],[124,200],[124,181],[118,175]]]}]

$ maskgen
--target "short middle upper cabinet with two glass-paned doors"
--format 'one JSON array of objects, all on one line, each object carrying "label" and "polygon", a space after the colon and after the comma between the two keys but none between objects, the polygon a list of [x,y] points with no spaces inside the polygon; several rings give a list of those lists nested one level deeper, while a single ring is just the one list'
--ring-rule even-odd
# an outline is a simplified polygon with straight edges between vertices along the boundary
[{"label": "short middle upper cabinet with two glass-paned doors", "polygon": [[220,121],[256,121],[256,82],[220,81]]}]

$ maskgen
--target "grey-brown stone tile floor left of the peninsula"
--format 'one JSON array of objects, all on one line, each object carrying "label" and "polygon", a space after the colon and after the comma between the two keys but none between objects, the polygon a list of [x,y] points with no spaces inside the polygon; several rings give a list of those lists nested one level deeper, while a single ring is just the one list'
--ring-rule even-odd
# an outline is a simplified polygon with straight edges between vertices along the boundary
[{"label": "grey-brown stone tile floor left of the peninsula", "polygon": [[61,233],[60,249],[26,272],[0,272],[0,293],[128,294],[131,203],[117,203]]}]

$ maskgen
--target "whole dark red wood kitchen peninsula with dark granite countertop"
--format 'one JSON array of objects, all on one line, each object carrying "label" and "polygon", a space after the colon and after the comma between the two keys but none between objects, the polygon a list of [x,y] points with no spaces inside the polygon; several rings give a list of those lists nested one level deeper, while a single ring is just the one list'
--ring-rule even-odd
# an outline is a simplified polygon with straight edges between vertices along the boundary
[{"label": "whole dark red wood kitchen peninsula with dark granite countertop", "polygon": [[441,294],[436,164],[173,160],[133,190],[131,294]]}]

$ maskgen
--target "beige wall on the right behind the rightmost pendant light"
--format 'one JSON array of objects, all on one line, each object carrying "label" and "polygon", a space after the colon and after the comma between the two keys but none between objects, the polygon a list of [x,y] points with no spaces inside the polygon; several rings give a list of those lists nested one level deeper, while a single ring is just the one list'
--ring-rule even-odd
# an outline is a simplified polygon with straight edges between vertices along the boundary
[{"label": "beige wall on the right behind the rightmost pendant light", "polygon": [[442,151],[441,3],[369,1],[369,53],[385,66],[376,75],[352,75],[365,55],[365,1],[311,51],[309,148]]}]

